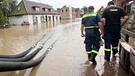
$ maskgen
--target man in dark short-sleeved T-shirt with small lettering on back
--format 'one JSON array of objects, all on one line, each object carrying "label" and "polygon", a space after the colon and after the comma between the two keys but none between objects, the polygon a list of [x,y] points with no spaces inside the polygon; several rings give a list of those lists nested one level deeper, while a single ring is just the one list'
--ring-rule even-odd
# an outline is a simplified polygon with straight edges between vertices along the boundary
[{"label": "man in dark short-sleeved T-shirt with small lettering on back", "polygon": [[[121,19],[123,18],[123,19]],[[108,7],[103,11],[102,21],[104,22],[105,60],[110,61],[111,50],[113,55],[118,52],[118,43],[121,25],[128,19],[124,9],[114,6],[114,2],[108,2]]]}]

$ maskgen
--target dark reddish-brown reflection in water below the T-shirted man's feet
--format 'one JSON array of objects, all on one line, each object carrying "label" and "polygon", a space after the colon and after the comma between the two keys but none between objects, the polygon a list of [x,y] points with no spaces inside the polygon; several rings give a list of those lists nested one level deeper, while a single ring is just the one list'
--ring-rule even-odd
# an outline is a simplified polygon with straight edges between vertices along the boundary
[{"label": "dark reddish-brown reflection in water below the T-shirted man's feet", "polygon": [[101,76],[128,76],[119,64],[118,56],[113,56],[111,62],[104,62],[104,72]]}]

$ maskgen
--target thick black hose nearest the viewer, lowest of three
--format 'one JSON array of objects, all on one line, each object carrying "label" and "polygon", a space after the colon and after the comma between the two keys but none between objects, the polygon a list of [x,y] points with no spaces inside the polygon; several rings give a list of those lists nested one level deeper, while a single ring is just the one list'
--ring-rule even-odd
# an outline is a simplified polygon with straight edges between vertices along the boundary
[{"label": "thick black hose nearest the viewer, lowest of three", "polygon": [[[57,40],[56,40],[57,41]],[[55,42],[56,42],[55,41]],[[0,72],[24,70],[38,65],[53,48],[55,42],[37,59],[27,62],[0,62]]]}]

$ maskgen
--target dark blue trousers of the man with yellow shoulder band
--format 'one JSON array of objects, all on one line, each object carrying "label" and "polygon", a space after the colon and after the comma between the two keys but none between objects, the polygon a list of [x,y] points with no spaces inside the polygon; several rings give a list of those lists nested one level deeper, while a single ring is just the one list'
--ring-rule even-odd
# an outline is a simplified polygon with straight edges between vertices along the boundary
[{"label": "dark blue trousers of the man with yellow shoulder band", "polygon": [[86,48],[86,52],[89,55],[92,50],[93,53],[98,54],[99,48],[100,48],[100,44],[99,44],[99,40],[100,40],[100,32],[99,30],[97,30],[97,32],[94,32],[94,29],[86,29],[85,30],[85,48]]}]

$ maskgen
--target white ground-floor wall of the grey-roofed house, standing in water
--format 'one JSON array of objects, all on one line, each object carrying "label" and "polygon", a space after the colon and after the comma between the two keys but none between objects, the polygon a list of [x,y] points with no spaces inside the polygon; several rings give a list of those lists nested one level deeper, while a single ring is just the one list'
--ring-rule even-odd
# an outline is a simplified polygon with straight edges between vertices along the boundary
[{"label": "white ground-floor wall of the grey-roofed house, standing in water", "polygon": [[29,24],[45,23],[48,21],[59,21],[60,15],[22,15],[9,17],[9,23],[11,25],[22,25],[24,22]]}]

